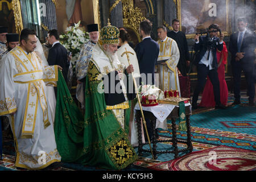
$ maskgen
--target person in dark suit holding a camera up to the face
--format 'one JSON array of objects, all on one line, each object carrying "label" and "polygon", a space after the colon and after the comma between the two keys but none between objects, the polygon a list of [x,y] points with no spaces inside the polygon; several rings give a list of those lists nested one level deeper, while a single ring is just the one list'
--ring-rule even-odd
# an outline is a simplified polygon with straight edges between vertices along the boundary
[{"label": "person in dark suit holding a camera up to the face", "polygon": [[222,51],[224,34],[220,35],[220,39],[217,38],[218,25],[211,24],[209,26],[209,36],[195,36],[195,52],[196,59],[195,65],[197,65],[197,85],[193,93],[192,109],[197,109],[197,100],[199,93],[204,88],[205,78],[209,76],[210,82],[213,85],[214,101],[216,103],[216,109],[225,109],[225,106],[220,102],[220,82],[218,80],[218,64],[216,51]]}]

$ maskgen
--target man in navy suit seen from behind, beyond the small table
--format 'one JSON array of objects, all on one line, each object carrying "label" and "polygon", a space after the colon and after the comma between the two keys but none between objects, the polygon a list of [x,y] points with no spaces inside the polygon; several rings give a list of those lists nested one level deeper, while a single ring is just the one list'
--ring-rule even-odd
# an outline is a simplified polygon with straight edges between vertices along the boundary
[{"label": "man in navy suit seen from behind, beyond the small table", "polygon": [[[135,47],[139,63],[139,72],[141,73],[143,84],[146,85],[154,85],[155,63],[158,60],[159,54],[158,43],[150,37],[151,30],[152,23],[150,20],[144,20],[139,24],[142,42],[138,43]],[[146,80],[144,76],[146,76]]]}]

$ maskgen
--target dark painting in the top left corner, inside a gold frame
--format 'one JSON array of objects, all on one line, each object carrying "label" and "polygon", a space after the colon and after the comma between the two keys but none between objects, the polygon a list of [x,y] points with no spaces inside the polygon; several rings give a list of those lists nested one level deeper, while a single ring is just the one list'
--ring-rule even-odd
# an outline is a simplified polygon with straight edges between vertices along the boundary
[{"label": "dark painting in the top left corner, inside a gold frame", "polygon": [[0,26],[8,27],[9,33],[16,33],[11,0],[0,0]]}]

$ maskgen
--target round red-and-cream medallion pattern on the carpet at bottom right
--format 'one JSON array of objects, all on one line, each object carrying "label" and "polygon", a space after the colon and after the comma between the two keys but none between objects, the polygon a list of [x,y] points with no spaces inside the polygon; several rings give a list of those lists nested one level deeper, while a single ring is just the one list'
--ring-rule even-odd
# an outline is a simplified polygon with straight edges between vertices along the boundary
[{"label": "round red-and-cream medallion pattern on the carpet at bottom right", "polygon": [[254,171],[256,152],[218,146],[196,151],[169,162],[158,163],[150,169],[160,171]]}]

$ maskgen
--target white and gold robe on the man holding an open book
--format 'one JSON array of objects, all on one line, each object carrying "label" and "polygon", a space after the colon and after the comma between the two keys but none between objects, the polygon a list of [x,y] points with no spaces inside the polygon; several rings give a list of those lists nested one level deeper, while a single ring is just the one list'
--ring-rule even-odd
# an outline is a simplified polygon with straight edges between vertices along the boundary
[{"label": "white and gold robe on the man holding an open book", "polygon": [[165,90],[178,90],[180,94],[179,76],[177,73],[177,64],[180,59],[179,48],[174,39],[166,38],[163,42],[158,40],[159,56],[158,61],[167,60],[166,65],[157,64],[159,73],[159,88]]}]

